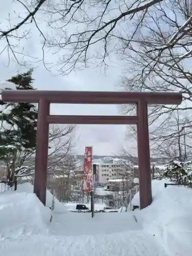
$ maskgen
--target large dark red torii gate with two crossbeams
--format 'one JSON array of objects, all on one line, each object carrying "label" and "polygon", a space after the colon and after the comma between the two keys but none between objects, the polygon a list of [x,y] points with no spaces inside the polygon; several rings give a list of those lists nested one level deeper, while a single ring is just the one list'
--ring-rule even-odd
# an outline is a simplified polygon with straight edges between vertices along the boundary
[{"label": "large dark red torii gate with two crossbeams", "polygon": [[[147,104],[180,104],[181,93],[83,92],[5,90],[4,102],[38,103],[34,193],[46,205],[49,124],[136,124],[139,159],[140,208],[152,203],[150,143]],[[136,104],[136,116],[61,116],[50,115],[50,103]]]}]

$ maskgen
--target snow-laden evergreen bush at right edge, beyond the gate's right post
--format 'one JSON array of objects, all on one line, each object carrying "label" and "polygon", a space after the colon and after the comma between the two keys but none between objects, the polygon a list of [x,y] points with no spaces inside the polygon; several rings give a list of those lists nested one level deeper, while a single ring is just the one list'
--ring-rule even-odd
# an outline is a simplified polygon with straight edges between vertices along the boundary
[{"label": "snow-laden evergreen bush at right edge, beyond the gate's right post", "polygon": [[164,177],[169,178],[178,185],[192,187],[192,161],[170,161],[166,166]]}]

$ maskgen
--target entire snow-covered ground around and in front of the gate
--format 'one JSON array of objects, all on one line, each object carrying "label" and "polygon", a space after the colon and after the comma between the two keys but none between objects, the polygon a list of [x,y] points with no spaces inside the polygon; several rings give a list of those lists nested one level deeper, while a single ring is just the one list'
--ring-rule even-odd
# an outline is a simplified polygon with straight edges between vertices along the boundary
[{"label": "entire snow-covered ground around and in front of the gate", "polygon": [[[0,194],[0,248],[4,256],[176,256],[191,255],[192,189],[164,188],[153,181],[154,201],[144,210],[121,213],[51,210],[22,184]],[[52,195],[47,193],[51,206]],[[139,195],[133,199],[138,204]]]}]

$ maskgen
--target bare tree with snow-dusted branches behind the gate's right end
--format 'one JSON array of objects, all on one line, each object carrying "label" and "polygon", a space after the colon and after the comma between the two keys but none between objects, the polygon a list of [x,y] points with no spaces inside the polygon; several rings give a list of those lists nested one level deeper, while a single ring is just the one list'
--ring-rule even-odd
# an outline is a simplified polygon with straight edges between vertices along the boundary
[{"label": "bare tree with snow-dusted branches behind the gate's right end", "polygon": [[[145,15],[139,28],[135,19],[134,37],[120,32],[113,35],[121,42],[121,58],[128,67],[121,86],[127,91],[183,93],[180,106],[148,108],[152,156],[162,155],[164,148],[169,156],[172,152],[183,159],[191,154],[192,5],[190,1],[170,0]],[[135,106],[121,108],[125,115],[133,111]],[[129,128],[128,134],[136,137],[135,129]]]}]

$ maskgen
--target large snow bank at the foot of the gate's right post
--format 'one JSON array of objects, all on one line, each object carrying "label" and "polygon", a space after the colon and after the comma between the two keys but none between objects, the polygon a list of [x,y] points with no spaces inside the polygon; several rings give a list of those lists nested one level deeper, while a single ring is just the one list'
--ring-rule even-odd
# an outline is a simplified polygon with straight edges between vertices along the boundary
[{"label": "large snow bank at the foot of the gate's right post", "polygon": [[[191,255],[192,241],[192,189],[178,186],[164,188],[167,180],[152,182],[153,203],[134,214],[147,232],[166,249],[167,254]],[[139,193],[132,201],[139,205]]]}]

